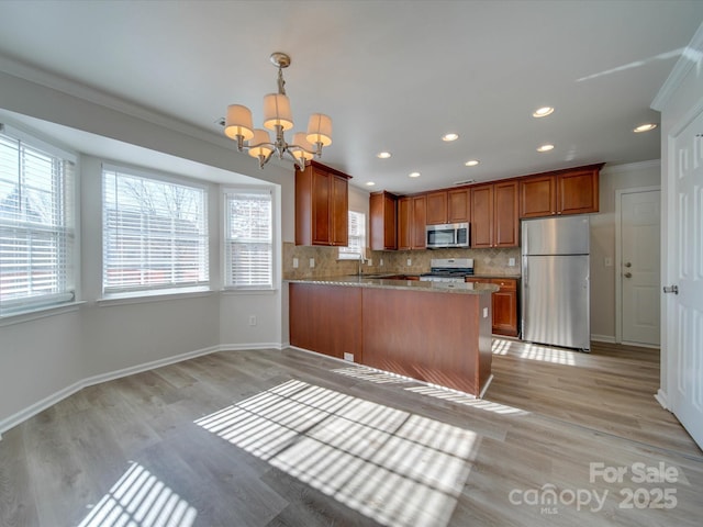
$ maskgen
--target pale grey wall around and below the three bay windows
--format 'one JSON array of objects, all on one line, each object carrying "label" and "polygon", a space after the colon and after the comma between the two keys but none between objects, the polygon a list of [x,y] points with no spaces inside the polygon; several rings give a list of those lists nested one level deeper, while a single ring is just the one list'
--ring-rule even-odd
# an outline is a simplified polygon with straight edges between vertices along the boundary
[{"label": "pale grey wall around and below the three bay windows", "polygon": [[[100,100],[98,96],[91,98]],[[90,102],[36,82],[0,71],[0,111],[69,126],[120,145],[138,145],[168,157],[178,173],[216,171],[256,178],[274,186],[280,203],[276,210],[275,291],[224,293],[219,291],[221,186],[209,183],[210,259],[213,292],[176,295],[148,301],[101,302],[101,160],[80,156],[80,267],[85,303],[67,313],[0,325],[0,433],[29,417],[46,404],[113,374],[166,363],[193,352],[216,349],[279,347],[287,337],[288,302],[281,290],[281,243],[294,239],[294,179],[289,166],[275,162],[259,170],[255,160],[236,153],[196,128],[137,109],[120,108],[114,101]],[[112,108],[109,108],[112,106]],[[60,141],[60,138],[58,138]],[[116,145],[116,143],[115,143]],[[79,148],[80,149],[80,148]],[[125,152],[114,149],[110,161],[135,165]],[[179,167],[178,165],[182,165]],[[223,172],[226,171],[226,172]],[[216,178],[215,178],[216,179]],[[256,181],[255,180],[255,181]],[[256,325],[249,326],[249,316]],[[16,321],[15,321],[16,322]]]}]

